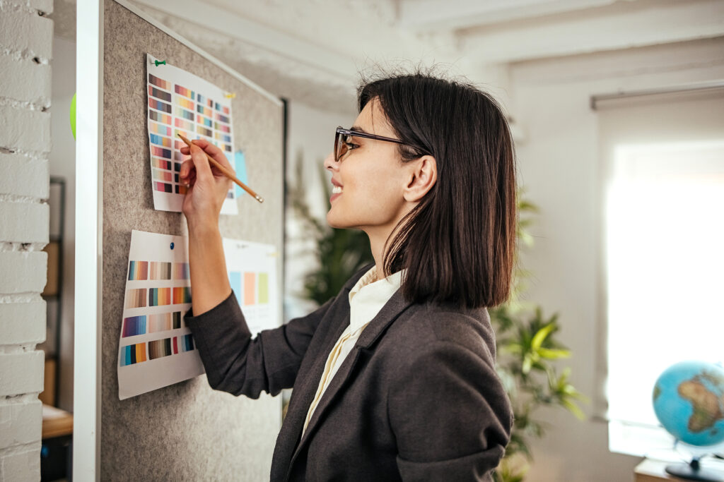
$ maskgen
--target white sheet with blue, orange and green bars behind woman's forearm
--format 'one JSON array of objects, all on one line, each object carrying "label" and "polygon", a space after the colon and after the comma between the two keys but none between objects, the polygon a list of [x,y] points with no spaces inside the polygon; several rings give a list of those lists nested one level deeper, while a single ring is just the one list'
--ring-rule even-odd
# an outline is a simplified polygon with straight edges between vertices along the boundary
[{"label": "white sheet with blue, orange and green bars behind woman's forearm", "polygon": [[277,253],[271,244],[224,238],[229,283],[252,335],[281,324]]}]

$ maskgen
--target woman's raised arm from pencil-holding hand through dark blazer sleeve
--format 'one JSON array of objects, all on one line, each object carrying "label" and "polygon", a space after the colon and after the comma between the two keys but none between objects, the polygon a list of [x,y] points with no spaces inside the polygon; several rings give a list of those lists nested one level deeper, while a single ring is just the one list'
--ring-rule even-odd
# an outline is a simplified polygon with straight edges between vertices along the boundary
[{"label": "woman's raised arm from pencil-holding hand through dark blazer sleeve", "polygon": [[[224,153],[204,140],[193,141],[181,152],[191,159],[181,166],[180,178],[189,184],[183,202],[188,220],[188,256],[191,275],[191,310],[185,323],[193,333],[209,384],[215,390],[257,398],[290,388],[301,361],[330,303],[256,338],[231,291],[227,277],[221,211],[230,181],[209,166],[203,151],[231,169]],[[203,150],[202,150],[203,149]]]}]

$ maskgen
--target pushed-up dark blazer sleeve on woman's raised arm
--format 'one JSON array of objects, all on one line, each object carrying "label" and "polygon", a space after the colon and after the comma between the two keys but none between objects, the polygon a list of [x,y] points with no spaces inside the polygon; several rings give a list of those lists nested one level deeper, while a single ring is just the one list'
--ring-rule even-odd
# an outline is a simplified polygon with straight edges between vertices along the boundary
[{"label": "pushed-up dark blazer sleeve on woman's raised arm", "polygon": [[292,319],[255,338],[232,292],[214,308],[185,322],[201,356],[209,385],[233,395],[258,398],[291,388],[316,327],[332,300],[306,317]]}]

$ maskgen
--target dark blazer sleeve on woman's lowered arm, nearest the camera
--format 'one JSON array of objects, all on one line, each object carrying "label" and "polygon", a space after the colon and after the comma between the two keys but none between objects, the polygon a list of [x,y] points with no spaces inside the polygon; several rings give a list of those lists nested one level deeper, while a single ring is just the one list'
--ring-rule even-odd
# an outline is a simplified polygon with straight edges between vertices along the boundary
[{"label": "dark blazer sleeve on woman's lowered arm, nearest the camera", "polygon": [[490,481],[513,415],[489,353],[436,340],[408,356],[388,391],[404,481]]}]

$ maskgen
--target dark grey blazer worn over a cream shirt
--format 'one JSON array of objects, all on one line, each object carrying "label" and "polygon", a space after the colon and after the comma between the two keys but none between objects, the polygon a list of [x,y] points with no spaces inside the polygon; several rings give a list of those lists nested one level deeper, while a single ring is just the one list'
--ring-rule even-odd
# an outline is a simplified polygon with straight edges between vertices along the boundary
[{"label": "dark grey blazer worn over a cream shirt", "polygon": [[510,439],[486,309],[410,304],[397,291],[363,330],[302,434],[358,272],[306,317],[255,338],[232,295],[185,321],[209,384],[258,398],[294,387],[271,481],[489,481]]}]

